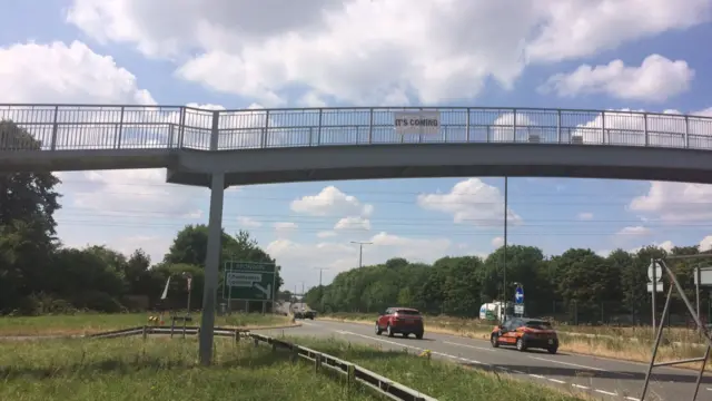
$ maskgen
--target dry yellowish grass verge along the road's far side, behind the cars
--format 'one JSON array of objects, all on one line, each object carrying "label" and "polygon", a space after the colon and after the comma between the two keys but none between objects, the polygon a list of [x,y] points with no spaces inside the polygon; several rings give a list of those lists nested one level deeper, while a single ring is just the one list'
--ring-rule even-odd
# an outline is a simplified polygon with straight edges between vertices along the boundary
[{"label": "dry yellowish grass verge along the road's far side, behind the cars", "polygon": [[[319,319],[342,322],[374,324],[375,314],[335,313]],[[453,334],[471,339],[488,340],[493,323],[476,319],[448,316],[426,316],[425,330],[431,333]],[[652,327],[613,326],[571,326],[554,325],[561,340],[560,351],[622,359],[626,361],[649,362],[653,346]],[[693,330],[665,329],[664,343],[657,351],[656,361],[674,361],[704,355],[704,348],[695,345],[700,336]],[[712,360],[712,359],[711,359]],[[699,363],[688,363],[682,368],[699,369]],[[712,371],[710,363],[708,371]]]}]

